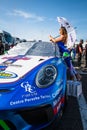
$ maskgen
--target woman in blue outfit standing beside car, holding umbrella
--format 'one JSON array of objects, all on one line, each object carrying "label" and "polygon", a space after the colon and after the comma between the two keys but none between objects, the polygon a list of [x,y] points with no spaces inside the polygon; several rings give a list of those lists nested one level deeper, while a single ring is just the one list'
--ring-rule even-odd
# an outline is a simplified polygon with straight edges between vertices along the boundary
[{"label": "woman in blue outfit standing beside car, holding umbrella", "polygon": [[72,63],[71,63],[71,57],[70,57],[70,51],[67,49],[67,47],[65,46],[67,44],[67,30],[65,27],[61,27],[59,29],[59,33],[60,36],[57,38],[53,38],[51,35],[49,36],[50,41],[52,41],[53,43],[56,43],[59,47],[59,51],[61,53],[62,56],[65,56],[65,54],[67,54],[67,57],[65,56],[64,61],[67,64],[67,67],[70,70],[70,75],[71,75],[71,79],[76,79],[80,80],[81,76],[75,71]]}]

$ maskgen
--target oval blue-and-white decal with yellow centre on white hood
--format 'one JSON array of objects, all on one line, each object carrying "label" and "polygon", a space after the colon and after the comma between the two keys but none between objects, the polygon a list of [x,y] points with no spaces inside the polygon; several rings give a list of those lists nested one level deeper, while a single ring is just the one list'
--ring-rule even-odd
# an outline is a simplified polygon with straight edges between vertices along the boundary
[{"label": "oval blue-and-white decal with yellow centre on white hood", "polygon": [[10,78],[16,78],[17,74],[10,72],[10,71],[0,71],[0,78],[2,79],[10,79]]}]

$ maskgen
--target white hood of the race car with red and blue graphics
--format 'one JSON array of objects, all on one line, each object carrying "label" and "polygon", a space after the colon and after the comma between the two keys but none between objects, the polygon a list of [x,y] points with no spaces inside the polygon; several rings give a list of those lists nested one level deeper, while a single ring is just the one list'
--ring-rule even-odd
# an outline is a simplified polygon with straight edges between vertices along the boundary
[{"label": "white hood of the race car with red and blue graphics", "polygon": [[16,82],[47,59],[40,56],[3,56],[0,60],[0,84]]}]

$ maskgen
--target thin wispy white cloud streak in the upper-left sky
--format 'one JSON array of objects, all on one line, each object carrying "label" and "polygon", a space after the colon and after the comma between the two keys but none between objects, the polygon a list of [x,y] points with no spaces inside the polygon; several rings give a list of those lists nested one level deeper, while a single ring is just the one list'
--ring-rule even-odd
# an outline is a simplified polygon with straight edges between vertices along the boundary
[{"label": "thin wispy white cloud streak in the upper-left sky", "polygon": [[44,21],[45,20],[45,17],[37,16],[36,14],[27,13],[27,12],[21,11],[21,10],[13,10],[13,12],[9,13],[9,15],[20,16],[20,17],[23,17],[25,19],[34,19],[37,21]]}]

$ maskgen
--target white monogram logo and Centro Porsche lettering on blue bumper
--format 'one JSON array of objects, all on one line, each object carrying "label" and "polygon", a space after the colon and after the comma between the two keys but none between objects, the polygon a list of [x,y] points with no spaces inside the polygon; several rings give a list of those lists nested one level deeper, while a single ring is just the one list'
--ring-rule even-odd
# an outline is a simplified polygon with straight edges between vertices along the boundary
[{"label": "white monogram logo and Centro Porsche lettering on blue bumper", "polygon": [[25,92],[28,92],[28,93],[21,95],[21,99],[10,101],[10,106],[22,105],[25,103],[30,103],[30,102],[34,102],[38,100],[46,101],[46,99],[51,98],[49,94],[38,95],[35,90],[35,87],[31,86],[28,81],[21,83],[21,87],[25,90]]}]

